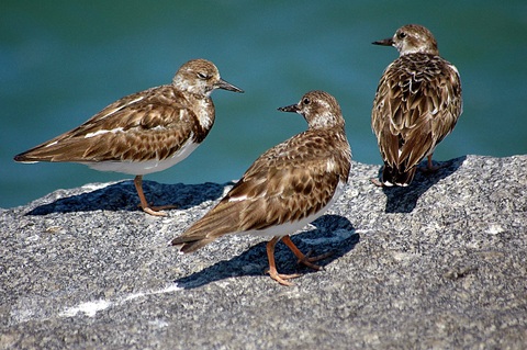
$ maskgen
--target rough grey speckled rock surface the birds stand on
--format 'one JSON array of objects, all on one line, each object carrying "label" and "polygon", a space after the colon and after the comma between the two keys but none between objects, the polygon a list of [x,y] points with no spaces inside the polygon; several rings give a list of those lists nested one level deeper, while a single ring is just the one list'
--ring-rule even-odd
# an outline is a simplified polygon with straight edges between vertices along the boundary
[{"label": "rough grey speckled rock surface the birds stand on", "polygon": [[324,271],[232,236],[181,256],[167,242],[232,183],[131,181],[0,210],[0,349],[522,349],[527,345],[527,156],[467,156],[404,189],[354,162],[327,215],[293,236]]}]

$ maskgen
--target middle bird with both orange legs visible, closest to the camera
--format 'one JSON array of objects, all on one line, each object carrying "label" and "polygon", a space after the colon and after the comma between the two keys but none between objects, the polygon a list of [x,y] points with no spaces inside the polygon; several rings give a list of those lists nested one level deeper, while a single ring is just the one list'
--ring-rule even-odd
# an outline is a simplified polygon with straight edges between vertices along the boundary
[{"label": "middle bird with both orange legs visible, closest to the camera", "polygon": [[231,234],[272,237],[267,244],[268,273],[282,285],[300,274],[280,274],[274,247],[282,240],[304,266],[319,270],[290,235],[322,216],[343,193],[351,167],[351,149],[337,100],[310,91],[296,104],[279,108],[295,112],[309,128],[258,157],[228,193],[181,236],[171,240],[182,253]]}]

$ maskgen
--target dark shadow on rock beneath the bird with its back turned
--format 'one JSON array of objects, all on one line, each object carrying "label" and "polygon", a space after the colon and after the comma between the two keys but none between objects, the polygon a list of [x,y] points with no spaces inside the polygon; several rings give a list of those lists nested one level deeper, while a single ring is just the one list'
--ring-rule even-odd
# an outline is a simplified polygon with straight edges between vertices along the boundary
[{"label": "dark shadow on rock beneath the bird with its back turned", "polygon": [[[462,166],[466,156],[439,163],[435,172],[417,170],[412,183],[407,187],[383,187],[386,195],[385,213],[412,213],[417,200],[440,180],[448,178]],[[381,168],[382,169],[382,168]],[[381,172],[381,170],[379,171]]]}]

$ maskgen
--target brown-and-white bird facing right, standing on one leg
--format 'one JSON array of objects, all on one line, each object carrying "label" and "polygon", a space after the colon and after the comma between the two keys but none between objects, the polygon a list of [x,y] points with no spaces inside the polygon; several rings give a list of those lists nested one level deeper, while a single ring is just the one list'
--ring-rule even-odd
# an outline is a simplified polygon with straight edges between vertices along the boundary
[{"label": "brown-and-white bird facing right, standing on one leg", "polygon": [[170,84],[126,95],[82,125],[14,156],[18,162],[77,162],[100,171],[135,176],[141,207],[165,216],[143,192],[143,176],[187,158],[206,137],[215,120],[215,89],[244,92],[223,80],[206,59],[191,59]]}]

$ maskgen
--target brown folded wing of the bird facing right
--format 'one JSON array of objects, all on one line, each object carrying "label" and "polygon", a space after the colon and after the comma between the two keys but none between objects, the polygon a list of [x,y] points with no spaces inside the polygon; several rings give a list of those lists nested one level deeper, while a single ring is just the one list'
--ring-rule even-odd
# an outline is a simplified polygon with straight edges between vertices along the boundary
[{"label": "brown folded wing of the bird facing right", "polygon": [[192,121],[197,116],[181,99],[170,86],[127,95],[77,128],[20,154],[15,160],[162,160],[194,132]]}]

